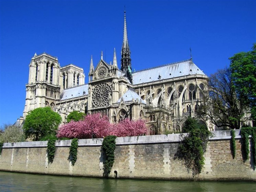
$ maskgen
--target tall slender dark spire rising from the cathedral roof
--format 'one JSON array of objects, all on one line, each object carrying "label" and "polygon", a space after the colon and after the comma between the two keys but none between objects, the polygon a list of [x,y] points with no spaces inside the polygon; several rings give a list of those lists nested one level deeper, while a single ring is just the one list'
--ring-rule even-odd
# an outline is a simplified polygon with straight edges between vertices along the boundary
[{"label": "tall slender dark spire rising from the cathedral roof", "polygon": [[132,83],[132,66],[131,66],[131,51],[128,44],[127,27],[126,27],[126,11],[124,9],[124,37],[121,51],[121,70]]}]

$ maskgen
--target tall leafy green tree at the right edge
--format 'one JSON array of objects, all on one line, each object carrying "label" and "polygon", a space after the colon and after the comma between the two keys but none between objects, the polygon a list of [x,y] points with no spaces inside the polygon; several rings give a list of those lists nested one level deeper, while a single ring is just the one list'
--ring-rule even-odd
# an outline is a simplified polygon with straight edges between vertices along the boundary
[{"label": "tall leafy green tree at the right edge", "polygon": [[230,60],[233,86],[241,105],[251,108],[251,117],[256,120],[256,43],[252,51],[235,54]]}]

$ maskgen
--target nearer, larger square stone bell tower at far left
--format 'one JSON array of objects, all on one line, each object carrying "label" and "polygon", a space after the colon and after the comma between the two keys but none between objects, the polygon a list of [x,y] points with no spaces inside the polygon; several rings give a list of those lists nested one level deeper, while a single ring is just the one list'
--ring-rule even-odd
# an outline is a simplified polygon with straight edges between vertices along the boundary
[{"label": "nearer, larger square stone bell tower at far left", "polygon": [[50,106],[54,108],[60,98],[60,65],[57,57],[46,53],[31,58],[29,79],[26,84],[26,103],[23,117],[35,108]]}]

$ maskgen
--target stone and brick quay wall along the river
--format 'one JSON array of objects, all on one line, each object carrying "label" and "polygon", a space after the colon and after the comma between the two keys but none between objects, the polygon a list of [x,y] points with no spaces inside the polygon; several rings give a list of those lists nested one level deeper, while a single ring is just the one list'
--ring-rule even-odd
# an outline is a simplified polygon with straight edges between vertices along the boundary
[{"label": "stone and brick quay wall along the river", "polygon": [[[236,157],[231,154],[230,131],[214,131],[204,154],[205,165],[199,180],[256,181],[252,144],[250,154],[243,161],[240,130],[236,130]],[[116,138],[115,161],[110,178],[190,180],[182,160],[174,159],[180,134]],[[0,170],[86,177],[103,177],[103,138],[78,140],[77,161],[69,161],[71,140],[56,141],[52,163],[48,163],[47,141],[4,143],[0,156]]]}]

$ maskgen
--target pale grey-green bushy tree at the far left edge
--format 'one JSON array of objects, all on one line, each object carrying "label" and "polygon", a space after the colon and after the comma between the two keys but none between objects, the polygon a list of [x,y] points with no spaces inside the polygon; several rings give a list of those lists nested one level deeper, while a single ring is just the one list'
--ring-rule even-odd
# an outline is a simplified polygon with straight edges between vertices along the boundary
[{"label": "pale grey-green bushy tree at the far left edge", "polygon": [[22,128],[15,125],[5,127],[4,132],[0,133],[0,143],[23,142],[25,140]]}]

